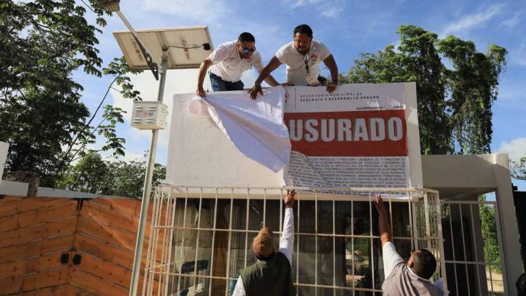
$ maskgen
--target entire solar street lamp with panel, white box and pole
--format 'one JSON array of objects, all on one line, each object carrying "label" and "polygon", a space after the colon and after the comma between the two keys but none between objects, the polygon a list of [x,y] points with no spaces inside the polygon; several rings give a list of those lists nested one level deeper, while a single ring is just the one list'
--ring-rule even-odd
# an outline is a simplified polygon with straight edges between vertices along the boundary
[{"label": "entire solar street lamp with panel, white box and pole", "polygon": [[[201,62],[208,57],[212,50],[212,41],[208,27],[179,27],[171,29],[151,29],[135,31],[132,25],[121,13],[118,6],[119,0],[97,0],[97,3],[109,10],[116,12],[129,31],[114,32],[119,47],[123,51],[129,69],[145,70],[150,69],[155,79],[159,80],[157,101],[151,102],[152,105],[162,110],[162,98],[164,96],[164,84],[166,82],[166,71],[168,69],[196,69]],[[148,45],[148,46],[147,46]],[[161,62],[159,62],[159,58]],[[160,71],[159,71],[160,65]],[[144,102],[140,102],[144,103]],[[134,111],[136,112],[136,103]],[[150,112],[150,111],[148,111]],[[157,111],[155,111],[157,112]],[[132,114],[134,116],[135,114]],[[146,113],[146,116],[151,114]],[[155,114],[157,118],[157,114]],[[148,119],[146,119],[148,120]],[[159,121],[156,121],[158,123]],[[161,121],[162,122],[162,121]],[[145,123],[140,121],[134,127],[151,131],[151,142],[148,153],[147,171],[145,174],[144,189],[142,191],[142,202],[140,206],[139,225],[137,230],[137,240],[134,254],[134,265],[132,269],[132,281],[129,287],[129,295],[137,295],[137,286],[140,274],[140,260],[142,258],[142,244],[145,238],[145,227],[148,214],[149,198],[151,191],[151,180],[153,177],[153,166],[155,164],[155,153],[157,149],[158,130],[164,126],[155,123]],[[152,127],[154,125],[154,127]]]}]

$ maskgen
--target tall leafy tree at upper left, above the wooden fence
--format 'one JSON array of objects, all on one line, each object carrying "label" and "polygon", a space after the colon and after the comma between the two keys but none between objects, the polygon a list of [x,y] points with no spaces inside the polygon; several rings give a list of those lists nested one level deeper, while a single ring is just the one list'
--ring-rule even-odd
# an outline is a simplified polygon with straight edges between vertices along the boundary
[{"label": "tall leafy tree at upper left, above the wooden fence", "polygon": [[[96,112],[90,118],[80,101],[83,87],[72,77],[80,68],[99,77],[122,73],[112,64],[108,71],[100,69],[95,34],[105,25],[105,12],[95,1],[88,3],[97,25],[88,23],[86,8],[75,0],[0,2],[0,140],[10,143],[6,169],[39,173],[44,186],[54,186],[97,134],[107,140],[103,150],[124,153],[124,139],[115,133],[122,110],[105,106],[104,121],[90,125]],[[125,86],[123,91],[133,93]]]}]

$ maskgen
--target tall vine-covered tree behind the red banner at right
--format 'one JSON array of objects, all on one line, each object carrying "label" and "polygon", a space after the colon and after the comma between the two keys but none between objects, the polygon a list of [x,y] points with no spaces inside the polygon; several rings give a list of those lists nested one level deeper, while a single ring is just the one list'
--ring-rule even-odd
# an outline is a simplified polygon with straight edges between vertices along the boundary
[{"label": "tall vine-covered tree behind the red banner at right", "polygon": [[491,107],[506,49],[491,45],[480,53],[471,41],[440,40],[414,25],[402,25],[398,33],[398,47],[362,53],[349,73],[340,75],[342,82],[416,82],[423,154],[490,152]]}]

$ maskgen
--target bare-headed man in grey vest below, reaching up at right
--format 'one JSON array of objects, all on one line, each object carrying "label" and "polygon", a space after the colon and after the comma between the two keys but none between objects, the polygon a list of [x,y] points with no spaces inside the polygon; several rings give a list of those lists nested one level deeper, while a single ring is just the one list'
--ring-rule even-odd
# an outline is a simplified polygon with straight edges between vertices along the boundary
[{"label": "bare-headed man in grey vest below, reaching up at right", "polygon": [[442,296],[444,293],[431,282],[436,271],[436,259],[427,249],[413,251],[408,262],[397,253],[392,243],[391,225],[384,201],[379,195],[375,200],[378,228],[384,256],[384,284],[381,290],[388,296]]}]

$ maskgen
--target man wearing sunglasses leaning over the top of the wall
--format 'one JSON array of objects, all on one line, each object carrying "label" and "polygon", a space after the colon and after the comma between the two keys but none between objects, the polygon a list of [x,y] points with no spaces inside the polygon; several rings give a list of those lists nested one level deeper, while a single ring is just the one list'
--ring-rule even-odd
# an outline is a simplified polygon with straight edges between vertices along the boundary
[{"label": "man wearing sunglasses leaning over the top of the wall", "polygon": [[[243,90],[245,84],[240,80],[243,72],[255,69],[261,73],[263,60],[258,51],[255,50],[255,38],[248,32],[241,33],[238,40],[225,42],[217,47],[210,56],[201,62],[199,67],[199,78],[197,80],[196,93],[199,97],[205,97],[203,81],[206,71],[210,67],[210,82],[212,90]],[[274,77],[268,76],[265,81],[271,86],[279,85]]]}]

